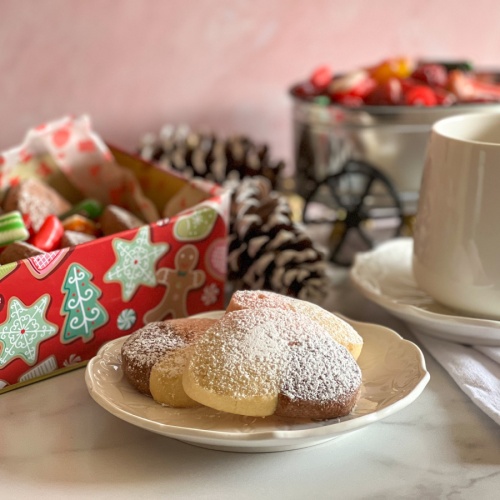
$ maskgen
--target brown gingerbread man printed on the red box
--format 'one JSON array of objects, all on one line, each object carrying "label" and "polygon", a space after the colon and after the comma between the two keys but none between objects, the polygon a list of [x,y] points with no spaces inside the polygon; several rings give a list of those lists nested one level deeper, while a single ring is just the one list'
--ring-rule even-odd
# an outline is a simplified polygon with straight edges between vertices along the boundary
[{"label": "brown gingerbread man printed on the red box", "polygon": [[162,267],[156,271],[157,282],[166,286],[160,303],[144,315],[144,322],[160,321],[171,315],[173,318],[187,316],[187,296],[190,290],[205,283],[205,272],[194,270],[199,251],[194,245],[184,245],[175,255],[175,269]]}]

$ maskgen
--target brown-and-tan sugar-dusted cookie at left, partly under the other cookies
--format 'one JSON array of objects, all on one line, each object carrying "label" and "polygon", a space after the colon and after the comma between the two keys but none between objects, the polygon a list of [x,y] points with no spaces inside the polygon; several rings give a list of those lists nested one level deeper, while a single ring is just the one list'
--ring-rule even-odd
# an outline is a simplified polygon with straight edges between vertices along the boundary
[{"label": "brown-and-tan sugar-dusted cookie at left, partly under the other cookies", "polygon": [[158,403],[195,404],[186,399],[182,389],[182,371],[189,346],[215,322],[207,318],[179,318],[149,323],[137,330],[121,349],[125,377]]}]

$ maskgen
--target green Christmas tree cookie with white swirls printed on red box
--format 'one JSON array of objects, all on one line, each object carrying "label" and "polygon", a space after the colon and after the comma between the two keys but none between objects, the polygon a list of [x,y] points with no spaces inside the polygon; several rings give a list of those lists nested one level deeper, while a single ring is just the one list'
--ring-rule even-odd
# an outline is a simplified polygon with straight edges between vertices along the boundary
[{"label": "green Christmas tree cookie with white swirls printed on red box", "polygon": [[61,342],[92,340],[94,331],[108,321],[108,313],[98,300],[102,292],[92,283],[92,274],[80,264],[71,264],[61,291],[65,295],[61,315],[66,316]]}]

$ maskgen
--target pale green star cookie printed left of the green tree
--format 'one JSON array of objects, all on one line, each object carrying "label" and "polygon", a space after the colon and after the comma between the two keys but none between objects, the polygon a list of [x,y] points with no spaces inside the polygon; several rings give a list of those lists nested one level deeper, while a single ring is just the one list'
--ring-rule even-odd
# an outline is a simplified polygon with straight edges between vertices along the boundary
[{"label": "pale green star cookie printed left of the green tree", "polygon": [[0,325],[0,368],[16,358],[32,366],[38,359],[38,347],[57,333],[57,326],[47,321],[45,314],[50,295],[39,297],[26,306],[17,297],[9,300],[7,319]]}]

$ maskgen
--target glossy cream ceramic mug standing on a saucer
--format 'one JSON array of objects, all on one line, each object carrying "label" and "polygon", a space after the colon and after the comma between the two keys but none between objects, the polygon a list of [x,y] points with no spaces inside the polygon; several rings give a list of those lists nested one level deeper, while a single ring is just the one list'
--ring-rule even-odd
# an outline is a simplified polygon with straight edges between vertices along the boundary
[{"label": "glossy cream ceramic mug standing on a saucer", "polygon": [[500,319],[500,114],[458,115],[434,124],[413,274],[438,302]]}]

